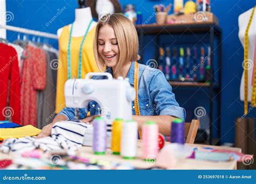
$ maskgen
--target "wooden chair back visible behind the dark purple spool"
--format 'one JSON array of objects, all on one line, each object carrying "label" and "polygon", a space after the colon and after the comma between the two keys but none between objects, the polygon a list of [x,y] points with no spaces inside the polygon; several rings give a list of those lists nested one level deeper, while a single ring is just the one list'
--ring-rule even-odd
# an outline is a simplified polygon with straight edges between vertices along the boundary
[{"label": "wooden chair back visible behind the dark purple spool", "polygon": [[191,123],[185,123],[185,138],[186,143],[194,144],[194,139],[196,139],[197,130],[199,126],[199,121],[197,119],[192,119]]}]

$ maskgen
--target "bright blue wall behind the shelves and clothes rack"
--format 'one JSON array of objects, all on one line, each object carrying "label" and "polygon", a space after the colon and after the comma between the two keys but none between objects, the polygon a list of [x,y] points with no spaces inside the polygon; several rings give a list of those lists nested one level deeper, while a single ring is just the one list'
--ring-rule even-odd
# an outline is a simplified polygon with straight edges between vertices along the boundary
[{"label": "bright blue wall behind the shelves and clothes rack", "polygon": [[[225,4],[224,4],[225,2]],[[173,3],[167,0],[143,0],[143,1],[120,1],[122,6],[128,3],[136,5],[138,11],[143,12],[143,21],[152,15],[152,6],[163,3],[165,5]],[[234,119],[243,115],[243,102],[239,99],[240,79],[242,75],[243,48],[238,39],[238,16],[255,5],[252,0],[212,0],[212,12],[219,18],[219,25],[223,30],[222,47],[222,89],[221,89],[221,137],[223,142],[234,141]],[[77,1],[75,0],[8,0],[6,1],[6,11],[14,14],[14,19],[8,22],[8,25],[24,27],[33,30],[39,30],[49,33],[57,32],[59,27],[73,22]],[[54,16],[52,23],[49,23]],[[153,23],[154,18],[149,23]],[[17,39],[17,33],[8,31],[8,39],[13,41]],[[32,39],[32,37],[30,37]],[[145,43],[150,42],[151,38],[146,38]],[[47,40],[45,40],[47,41]],[[56,40],[49,40],[54,47],[58,47]],[[151,43],[145,49],[145,59],[151,59],[155,54],[155,45]],[[186,108],[188,114],[198,106],[208,109],[207,95],[208,91],[198,91],[191,100],[184,98],[188,94],[193,94],[193,89],[174,89],[178,102]],[[205,97],[203,97],[205,96]],[[198,100],[200,97],[200,101]],[[193,104],[193,106],[192,106]],[[191,109],[191,110],[190,110]],[[256,117],[255,109],[248,114],[248,117]]]}]

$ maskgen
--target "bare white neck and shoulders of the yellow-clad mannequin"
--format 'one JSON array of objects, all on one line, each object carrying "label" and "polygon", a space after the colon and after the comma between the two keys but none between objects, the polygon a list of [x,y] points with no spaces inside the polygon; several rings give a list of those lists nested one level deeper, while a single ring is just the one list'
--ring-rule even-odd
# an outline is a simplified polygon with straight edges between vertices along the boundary
[{"label": "bare white neck and shoulders of the yellow-clad mannequin", "polygon": [[[78,1],[81,2],[81,1]],[[85,1],[84,1],[85,2]],[[81,8],[80,8],[81,7]],[[73,30],[72,30],[72,37],[82,37],[90,24],[92,19],[91,9],[90,7],[83,8],[85,6],[79,5],[79,9],[75,10],[75,22],[73,22]],[[90,26],[90,30],[96,26],[96,22],[92,22]],[[69,25],[69,30],[71,29],[71,24]],[[58,29],[57,35],[60,37],[62,33],[63,27]],[[90,31],[89,30],[89,31]]]}]

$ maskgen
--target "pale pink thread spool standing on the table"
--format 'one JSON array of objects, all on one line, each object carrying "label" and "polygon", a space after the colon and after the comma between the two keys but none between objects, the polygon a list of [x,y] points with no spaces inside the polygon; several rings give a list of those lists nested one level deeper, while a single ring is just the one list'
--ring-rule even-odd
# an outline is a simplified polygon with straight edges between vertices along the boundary
[{"label": "pale pink thread spool standing on the table", "polygon": [[158,154],[158,125],[147,121],[143,125],[142,158],[155,160]]}]

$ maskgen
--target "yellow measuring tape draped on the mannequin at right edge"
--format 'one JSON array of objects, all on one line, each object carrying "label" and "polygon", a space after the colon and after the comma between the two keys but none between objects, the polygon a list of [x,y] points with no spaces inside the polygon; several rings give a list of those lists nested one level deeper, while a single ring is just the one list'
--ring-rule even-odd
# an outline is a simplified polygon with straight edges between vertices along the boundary
[{"label": "yellow measuring tape draped on the mannequin at right edge", "polygon": [[[244,49],[244,81],[245,81],[245,86],[244,86],[244,92],[245,92],[245,102],[244,102],[244,114],[247,114],[247,110],[248,110],[248,32],[252,23],[252,19],[253,19],[253,15],[254,15],[254,11],[255,11],[255,6],[252,9],[252,13],[251,13],[251,17],[250,20],[248,22],[248,25],[246,27],[246,31],[245,31],[245,49]],[[254,63],[255,64],[255,63]],[[254,67],[254,73],[255,73],[255,67]],[[252,93],[252,107],[254,107],[255,105],[255,92],[256,90],[254,89],[255,86],[255,75],[253,78],[253,93]]]}]

